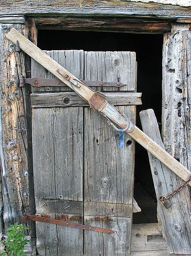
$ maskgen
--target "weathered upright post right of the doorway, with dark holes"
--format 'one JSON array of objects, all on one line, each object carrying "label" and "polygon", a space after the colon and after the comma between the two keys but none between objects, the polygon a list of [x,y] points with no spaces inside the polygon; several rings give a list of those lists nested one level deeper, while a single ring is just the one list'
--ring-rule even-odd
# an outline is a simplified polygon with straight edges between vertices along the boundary
[{"label": "weathered upright post right of the doorway, with dark holes", "polygon": [[[189,24],[174,24],[172,32],[164,36],[162,138],[166,151],[191,170],[191,31],[189,28]],[[172,190],[183,182],[174,174],[171,180]],[[181,228],[179,232],[185,235],[184,242],[187,242],[188,246],[177,248],[177,253],[187,251],[191,254],[190,229],[187,230],[187,225],[183,224],[186,222],[191,225],[190,217],[187,218],[183,210],[188,213],[186,209],[190,209],[190,188],[185,188],[182,193],[182,197],[178,200],[182,208],[182,217],[178,220]]]}]

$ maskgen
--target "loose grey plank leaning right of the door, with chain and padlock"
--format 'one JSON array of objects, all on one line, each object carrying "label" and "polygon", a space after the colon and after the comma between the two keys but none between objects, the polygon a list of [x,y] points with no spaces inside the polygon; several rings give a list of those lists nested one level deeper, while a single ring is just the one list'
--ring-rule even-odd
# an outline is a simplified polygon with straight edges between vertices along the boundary
[{"label": "loose grey plank leaning right of the door, with chain and padlock", "polygon": [[[164,148],[154,111],[152,109],[141,111],[140,119],[143,131]],[[150,153],[148,154],[158,202],[157,213],[161,220],[168,252],[170,254],[191,254],[191,220],[188,211],[191,209],[189,188],[184,188],[169,199],[172,206],[166,209],[159,201],[159,197],[171,193],[179,186],[180,181],[157,158]]]}]

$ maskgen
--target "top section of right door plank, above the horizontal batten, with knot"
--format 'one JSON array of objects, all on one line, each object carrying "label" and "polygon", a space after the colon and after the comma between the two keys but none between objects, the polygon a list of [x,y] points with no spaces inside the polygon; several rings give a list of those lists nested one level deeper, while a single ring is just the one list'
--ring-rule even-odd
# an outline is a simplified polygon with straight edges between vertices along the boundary
[{"label": "top section of right door plank, above the horizontal batten, with knot", "polygon": [[136,86],[135,52],[84,52],[84,79],[94,81],[122,82],[116,87],[92,87],[95,91],[134,91]]}]

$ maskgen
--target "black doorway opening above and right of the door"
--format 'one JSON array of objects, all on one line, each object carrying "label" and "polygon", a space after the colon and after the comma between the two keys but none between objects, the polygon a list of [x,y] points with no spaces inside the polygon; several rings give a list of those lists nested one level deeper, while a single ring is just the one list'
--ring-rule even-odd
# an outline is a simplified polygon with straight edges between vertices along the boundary
[{"label": "black doorway opening above and right of the door", "polygon": [[[141,129],[139,112],[155,111],[159,126],[162,111],[162,44],[163,35],[105,32],[38,30],[37,45],[43,50],[133,51],[138,62],[137,91],[142,92],[142,105],[137,106],[137,126]],[[141,208],[133,223],[157,222],[156,194],[147,151],[138,143],[135,156],[134,197]]]}]

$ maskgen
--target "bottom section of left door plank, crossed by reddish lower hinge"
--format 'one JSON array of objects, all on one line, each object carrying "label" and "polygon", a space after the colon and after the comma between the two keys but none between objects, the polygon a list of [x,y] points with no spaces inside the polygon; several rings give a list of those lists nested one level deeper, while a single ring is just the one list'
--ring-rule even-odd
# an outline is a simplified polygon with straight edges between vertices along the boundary
[{"label": "bottom section of left door plank, crossed by reddish lower hinge", "polygon": [[[49,217],[83,224],[83,217],[81,216],[68,215],[66,218],[62,214],[51,214]],[[45,235],[47,233],[48,235]],[[66,236],[63,236],[63,234],[66,234]],[[81,229],[36,222],[36,249],[39,255],[83,255],[81,240],[83,240],[83,230]]]}]

